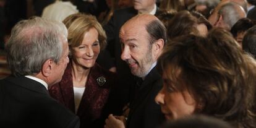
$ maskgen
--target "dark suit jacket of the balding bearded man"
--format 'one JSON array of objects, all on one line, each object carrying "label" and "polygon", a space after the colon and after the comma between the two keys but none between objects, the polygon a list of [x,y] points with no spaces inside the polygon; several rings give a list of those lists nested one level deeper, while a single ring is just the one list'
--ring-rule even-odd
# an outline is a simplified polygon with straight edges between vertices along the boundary
[{"label": "dark suit jacket of the balding bearded man", "polygon": [[163,80],[154,67],[142,84],[134,85],[134,98],[130,102],[130,111],[126,128],[155,128],[165,120],[155,96],[163,87]]}]

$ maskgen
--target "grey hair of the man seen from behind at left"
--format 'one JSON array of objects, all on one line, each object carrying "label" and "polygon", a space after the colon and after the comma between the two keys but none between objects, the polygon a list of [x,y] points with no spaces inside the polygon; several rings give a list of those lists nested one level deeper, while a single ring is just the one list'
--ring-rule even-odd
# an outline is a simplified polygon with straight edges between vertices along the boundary
[{"label": "grey hair of the man seen from behind at left", "polygon": [[62,41],[67,28],[61,22],[33,17],[12,28],[6,43],[7,64],[15,76],[35,75],[47,59],[58,63],[62,56]]}]

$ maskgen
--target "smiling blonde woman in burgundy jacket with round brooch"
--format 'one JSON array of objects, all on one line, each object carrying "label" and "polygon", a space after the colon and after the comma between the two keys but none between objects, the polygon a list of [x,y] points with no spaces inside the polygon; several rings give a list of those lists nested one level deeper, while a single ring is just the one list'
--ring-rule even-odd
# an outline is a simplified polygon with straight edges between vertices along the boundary
[{"label": "smiling blonde woman in burgundy jacket with round brooch", "polygon": [[73,14],[63,22],[69,33],[70,62],[49,93],[80,117],[80,127],[103,127],[103,109],[114,84],[114,74],[95,62],[106,45],[105,31],[92,15]]}]

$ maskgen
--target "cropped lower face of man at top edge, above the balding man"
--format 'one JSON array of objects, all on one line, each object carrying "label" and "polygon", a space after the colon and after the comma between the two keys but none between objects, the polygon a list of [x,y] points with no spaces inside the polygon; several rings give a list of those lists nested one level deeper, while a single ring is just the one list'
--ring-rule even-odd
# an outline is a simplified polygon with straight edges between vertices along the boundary
[{"label": "cropped lower face of man at top edge, above the balding man", "polygon": [[148,11],[149,8],[155,5],[155,0],[133,0],[134,9],[137,11]]}]

